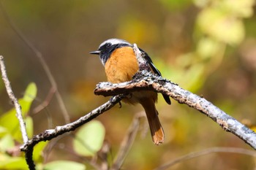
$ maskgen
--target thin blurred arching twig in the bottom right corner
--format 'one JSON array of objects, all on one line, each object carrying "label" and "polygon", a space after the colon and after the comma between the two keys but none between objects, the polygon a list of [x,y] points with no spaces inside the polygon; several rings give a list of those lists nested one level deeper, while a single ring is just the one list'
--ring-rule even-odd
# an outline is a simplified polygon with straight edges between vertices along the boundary
[{"label": "thin blurred arching twig in the bottom right corner", "polygon": [[170,168],[170,166],[174,166],[177,163],[181,163],[182,161],[187,161],[189,159],[196,158],[196,157],[199,157],[202,155],[208,155],[208,154],[214,153],[214,152],[239,153],[239,154],[250,155],[250,156],[256,157],[256,152],[252,151],[252,150],[246,150],[246,149],[238,148],[238,147],[212,147],[212,148],[208,148],[206,150],[201,150],[199,152],[191,152],[187,155],[183,155],[183,156],[176,158],[168,163],[165,163],[162,166],[159,166],[157,169],[154,169],[154,170],[165,170],[167,168]]}]

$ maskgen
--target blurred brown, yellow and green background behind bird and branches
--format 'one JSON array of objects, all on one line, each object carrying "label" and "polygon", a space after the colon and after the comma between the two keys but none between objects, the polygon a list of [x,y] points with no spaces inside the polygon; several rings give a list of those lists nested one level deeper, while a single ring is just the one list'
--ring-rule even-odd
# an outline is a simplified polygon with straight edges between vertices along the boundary
[{"label": "blurred brown, yellow and green background behind bird and branches", "polygon": [[[2,0],[10,20],[42,53],[71,120],[90,112],[108,98],[94,95],[98,82],[106,81],[99,58],[89,55],[109,38],[126,39],[145,50],[162,76],[205,97],[227,114],[247,125],[256,124],[256,15],[253,0]],[[3,10],[3,8],[1,8]],[[16,96],[23,96],[29,82],[38,88],[30,115],[34,134],[65,121],[56,96],[40,112],[50,82],[34,52],[12,29],[0,12],[0,55]],[[0,83],[0,111],[12,107]],[[159,118],[165,143],[155,146],[151,137],[135,139],[123,169],[154,169],[181,155],[210,147],[241,147],[241,139],[214,121],[159,95]],[[113,157],[142,107],[123,104],[97,117],[106,129],[105,140]],[[49,125],[48,117],[52,117]],[[71,148],[69,137],[59,144]],[[83,162],[60,147],[46,152],[48,159]],[[110,161],[111,162],[111,161]],[[213,153],[178,163],[170,169],[255,169],[255,158],[234,153]]]}]

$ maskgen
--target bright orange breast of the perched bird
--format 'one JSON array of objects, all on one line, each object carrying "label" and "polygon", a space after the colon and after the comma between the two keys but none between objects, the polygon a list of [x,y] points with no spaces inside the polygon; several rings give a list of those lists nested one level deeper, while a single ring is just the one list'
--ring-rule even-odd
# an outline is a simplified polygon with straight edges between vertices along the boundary
[{"label": "bright orange breast of the perched bird", "polygon": [[105,63],[108,81],[113,83],[132,80],[132,76],[138,69],[138,62],[132,47],[117,48]]}]

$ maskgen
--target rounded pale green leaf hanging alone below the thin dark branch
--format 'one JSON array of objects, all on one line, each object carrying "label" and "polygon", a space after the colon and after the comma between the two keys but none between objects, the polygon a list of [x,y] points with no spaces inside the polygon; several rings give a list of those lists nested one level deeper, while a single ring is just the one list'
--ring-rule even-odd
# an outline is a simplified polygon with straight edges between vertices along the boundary
[{"label": "rounded pale green leaf hanging alone below the thin dark branch", "polygon": [[97,120],[83,125],[78,131],[73,141],[75,152],[79,155],[94,156],[103,144],[105,137],[105,128]]}]

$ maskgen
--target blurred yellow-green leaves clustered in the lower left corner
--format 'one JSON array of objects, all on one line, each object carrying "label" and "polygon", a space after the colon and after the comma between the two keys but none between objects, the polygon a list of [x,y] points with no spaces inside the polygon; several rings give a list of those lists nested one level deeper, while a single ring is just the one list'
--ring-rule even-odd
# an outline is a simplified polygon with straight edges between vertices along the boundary
[{"label": "blurred yellow-green leaves clustered in the lower left corner", "polygon": [[[32,82],[25,90],[23,98],[18,101],[22,108],[23,117],[26,123],[26,131],[29,138],[33,134],[33,120],[29,116],[29,109],[32,101],[37,96],[37,87]],[[23,154],[19,147],[23,144],[19,122],[15,116],[15,108],[5,112],[0,117],[0,169],[28,169]],[[35,150],[35,155],[41,155],[42,150]],[[38,156],[36,157],[37,161]]]}]

